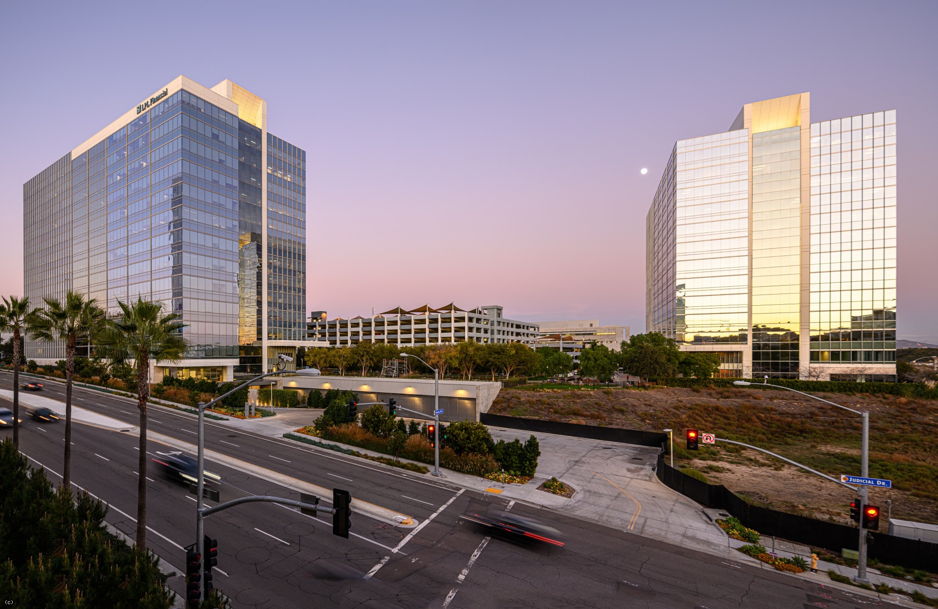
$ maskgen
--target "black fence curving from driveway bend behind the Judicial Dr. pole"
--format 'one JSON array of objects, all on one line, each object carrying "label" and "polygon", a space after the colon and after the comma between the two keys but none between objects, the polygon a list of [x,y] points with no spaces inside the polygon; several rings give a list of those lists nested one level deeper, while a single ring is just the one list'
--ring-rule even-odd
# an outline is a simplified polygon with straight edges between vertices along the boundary
[{"label": "black fence curving from driveway bend behind the Judicial Dr. pole", "polygon": [[[658,480],[666,486],[706,508],[726,510],[743,525],[754,528],[764,536],[775,536],[838,553],[843,548],[855,549],[859,542],[859,531],[853,526],[753,506],[722,484],[707,484],[691,478],[666,464],[664,451],[658,455],[656,471]],[[885,525],[888,526],[887,523]],[[876,558],[888,565],[933,570],[938,564],[938,543],[909,540],[870,531],[870,543],[867,547],[870,558]]]}]

